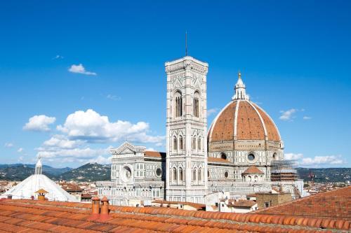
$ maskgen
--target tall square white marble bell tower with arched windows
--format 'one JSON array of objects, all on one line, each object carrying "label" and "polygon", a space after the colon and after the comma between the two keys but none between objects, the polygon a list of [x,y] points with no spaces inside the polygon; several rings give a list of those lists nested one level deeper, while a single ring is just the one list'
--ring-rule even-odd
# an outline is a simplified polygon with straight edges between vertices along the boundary
[{"label": "tall square white marble bell tower with arched windows", "polygon": [[185,56],[166,62],[166,200],[205,203],[208,64]]}]

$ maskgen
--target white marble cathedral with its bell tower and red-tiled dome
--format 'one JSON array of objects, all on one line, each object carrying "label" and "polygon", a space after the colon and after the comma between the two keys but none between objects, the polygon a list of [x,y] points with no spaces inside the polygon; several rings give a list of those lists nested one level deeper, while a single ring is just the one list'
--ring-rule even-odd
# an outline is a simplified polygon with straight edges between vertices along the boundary
[{"label": "white marble cathedral with its bell tower and red-tiled dome", "polygon": [[166,153],[125,142],[111,150],[111,181],[98,195],[114,205],[154,199],[206,204],[206,195],[243,199],[279,188],[303,197],[303,181],[284,164],[284,143],[270,116],[249,99],[239,77],[230,102],[207,129],[208,64],[186,56],[166,62]]}]

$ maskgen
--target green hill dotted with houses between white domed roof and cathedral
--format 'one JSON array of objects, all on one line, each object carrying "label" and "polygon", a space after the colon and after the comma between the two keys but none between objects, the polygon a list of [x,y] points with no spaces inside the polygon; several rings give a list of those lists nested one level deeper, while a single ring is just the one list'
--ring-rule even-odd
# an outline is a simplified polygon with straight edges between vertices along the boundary
[{"label": "green hill dotted with houses between white domed roof and cathedral", "polygon": [[88,163],[61,174],[59,178],[66,181],[110,181],[111,165]]}]

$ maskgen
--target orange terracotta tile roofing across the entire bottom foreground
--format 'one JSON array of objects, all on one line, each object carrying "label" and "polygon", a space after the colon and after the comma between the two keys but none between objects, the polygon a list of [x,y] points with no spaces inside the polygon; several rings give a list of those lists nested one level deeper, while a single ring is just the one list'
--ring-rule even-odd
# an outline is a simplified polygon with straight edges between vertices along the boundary
[{"label": "orange terracotta tile roofing across the entire bottom foreground", "polygon": [[[329,192],[330,195],[322,193],[319,197],[337,199],[341,195],[343,198],[339,197],[338,203],[314,202],[319,195],[289,202],[293,206],[308,201],[310,211],[320,211],[320,216],[295,208],[286,212],[288,208],[284,206],[289,204],[283,204],[280,212],[279,206],[274,206],[246,214],[110,206],[108,218],[91,218],[91,204],[2,199],[0,232],[348,232],[350,192],[351,187]],[[328,208],[333,208],[333,204],[348,206],[341,208],[341,213],[332,213]]]}]

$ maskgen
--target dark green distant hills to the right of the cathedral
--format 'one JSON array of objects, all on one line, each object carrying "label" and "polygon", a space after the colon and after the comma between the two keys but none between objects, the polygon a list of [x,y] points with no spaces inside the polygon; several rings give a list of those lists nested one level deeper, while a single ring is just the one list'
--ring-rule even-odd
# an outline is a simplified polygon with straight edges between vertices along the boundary
[{"label": "dark green distant hills to the right of the cathedral", "polygon": [[323,168],[323,169],[307,169],[298,167],[296,169],[303,181],[311,181],[308,177],[310,172],[314,174],[314,182],[345,182],[351,181],[351,168]]}]

